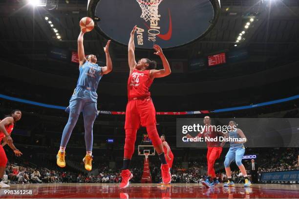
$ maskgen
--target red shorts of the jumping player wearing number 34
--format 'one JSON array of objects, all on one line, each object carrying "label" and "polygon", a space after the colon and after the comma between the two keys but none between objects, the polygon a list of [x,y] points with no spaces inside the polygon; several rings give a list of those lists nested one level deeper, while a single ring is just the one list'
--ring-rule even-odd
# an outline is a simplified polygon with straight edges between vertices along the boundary
[{"label": "red shorts of the jumping player wearing number 34", "polygon": [[125,129],[156,124],[156,110],[151,98],[129,100],[126,108]]}]

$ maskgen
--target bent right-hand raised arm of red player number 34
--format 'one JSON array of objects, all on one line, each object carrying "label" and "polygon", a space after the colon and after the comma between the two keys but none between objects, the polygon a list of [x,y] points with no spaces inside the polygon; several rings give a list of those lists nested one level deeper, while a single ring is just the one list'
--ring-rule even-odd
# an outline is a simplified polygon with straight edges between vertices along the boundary
[{"label": "bent right-hand raised arm of red player number 34", "polygon": [[171,68],[169,65],[168,60],[166,59],[165,55],[163,54],[162,48],[159,45],[153,45],[153,49],[155,49],[155,55],[160,56],[163,64],[163,69],[161,70],[150,70],[152,78],[163,78],[171,74]]}]

